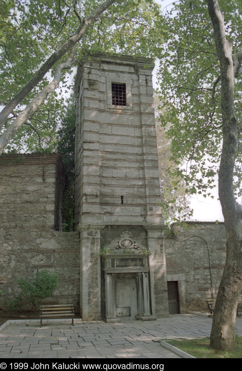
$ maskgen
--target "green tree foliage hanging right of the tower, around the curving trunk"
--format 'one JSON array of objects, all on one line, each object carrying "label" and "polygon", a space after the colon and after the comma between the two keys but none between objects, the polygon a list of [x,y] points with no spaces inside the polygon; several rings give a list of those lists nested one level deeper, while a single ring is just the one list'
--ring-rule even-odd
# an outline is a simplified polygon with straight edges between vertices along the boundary
[{"label": "green tree foliage hanging right of the tower, around the curving trunk", "polygon": [[[220,1],[233,54],[241,48],[239,1]],[[210,195],[215,187],[222,152],[221,74],[206,1],[181,0],[165,18],[168,39],[160,46],[160,120],[171,139],[173,174],[185,179],[189,193]],[[235,110],[241,125],[242,76],[237,70]],[[169,126],[167,126],[167,122]],[[240,126],[239,126],[240,127]],[[236,196],[241,197],[241,128],[234,175]],[[179,133],[179,135],[177,135]]]}]

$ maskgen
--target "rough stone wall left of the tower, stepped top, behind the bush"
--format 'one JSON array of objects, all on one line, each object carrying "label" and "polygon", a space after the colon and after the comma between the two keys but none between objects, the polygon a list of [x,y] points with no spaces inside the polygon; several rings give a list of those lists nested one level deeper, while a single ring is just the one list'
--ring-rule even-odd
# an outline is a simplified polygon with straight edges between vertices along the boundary
[{"label": "rough stone wall left of the tower, stepped top, behind the bush", "polygon": [[55,271],[59,285],[49,301],[74,302],[79,311],[79,233],[61,231],[66,181],[59,155],[1,158],[0,290],[14,298],[16,278]]}]

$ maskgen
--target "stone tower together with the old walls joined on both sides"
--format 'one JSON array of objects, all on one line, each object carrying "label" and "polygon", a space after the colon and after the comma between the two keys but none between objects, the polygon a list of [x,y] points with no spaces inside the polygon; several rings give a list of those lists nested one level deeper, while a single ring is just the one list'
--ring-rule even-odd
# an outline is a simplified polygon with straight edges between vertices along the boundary
[{"label": "stone tower together with the old walls joined on both sides", "polygon": [[47,301],[74,302],[85,321],[206,311],[205,299],[216,295],[224,225],[173,225],[174,238],[163,239],[153,66],[129,56],[82,61],[75,85],[75,232],[62,232],[61,157],[0,157],[0,290],[9,297],[18,293],[16,278],[43,269],[59,278]]}]

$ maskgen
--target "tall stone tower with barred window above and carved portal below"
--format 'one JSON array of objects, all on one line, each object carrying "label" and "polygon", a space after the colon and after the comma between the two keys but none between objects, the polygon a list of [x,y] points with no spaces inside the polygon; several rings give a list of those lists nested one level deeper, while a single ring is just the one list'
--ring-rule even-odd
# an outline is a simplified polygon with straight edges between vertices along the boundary
[{"label": "tall stone tower with barred window above and carved portal below", "polygon": [[76,79],[83,320],[168,316],[153,60],[89,56]]}]

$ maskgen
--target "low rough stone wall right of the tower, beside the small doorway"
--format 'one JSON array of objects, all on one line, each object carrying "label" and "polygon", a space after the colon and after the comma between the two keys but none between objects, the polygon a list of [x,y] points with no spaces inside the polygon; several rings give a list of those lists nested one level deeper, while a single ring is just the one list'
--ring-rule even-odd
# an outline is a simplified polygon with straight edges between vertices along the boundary
[{"label": "low rough stone wall right of the tower, beside the small doorway", "polygon": [[196,224],[188,222],[190,230],[173,225],[174,239],[164,241],[167,281],[178,281],[183,312],[206,310],[205,300],[211,291],[216,295],[226,259],[224,223]]}]

